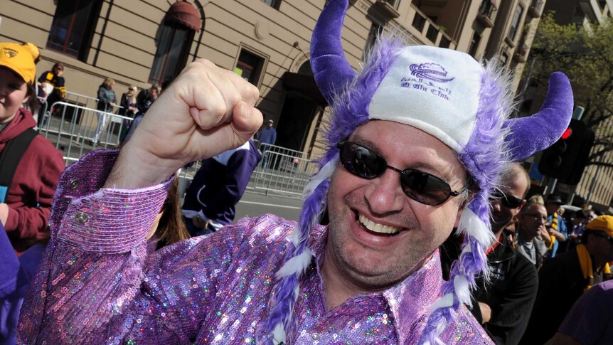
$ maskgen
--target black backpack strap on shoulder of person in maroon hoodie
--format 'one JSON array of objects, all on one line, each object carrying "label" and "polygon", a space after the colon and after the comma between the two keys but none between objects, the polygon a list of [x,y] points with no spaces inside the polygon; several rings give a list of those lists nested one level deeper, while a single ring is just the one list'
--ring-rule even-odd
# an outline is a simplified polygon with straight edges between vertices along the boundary
[{"label": "black backpack strap on shoulder of person in maroon hoodie", "polygon": [[0,202],[5,201],[21,157],[37,135],[38,132],[34,129],[28,129],[6,142],[6,146],[0,153]]}]

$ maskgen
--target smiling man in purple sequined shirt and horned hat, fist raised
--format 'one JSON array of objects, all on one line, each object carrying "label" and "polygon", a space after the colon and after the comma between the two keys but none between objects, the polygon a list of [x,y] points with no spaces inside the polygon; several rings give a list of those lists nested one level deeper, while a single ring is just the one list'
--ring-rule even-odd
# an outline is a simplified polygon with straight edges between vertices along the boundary
[{"label": "smiling man in purple sequined shirt and horned hat, fist raised", "polygon": [[[554,74],[538,114],[507,120],[508,78],[464,53],[385,39],[356,73],[341,47],[347,5],[329,1],[311,41],[332,119],[298,223],[243,219],[145,255],[168,176],[262,123],[255,87],[198,60],[120,154],[92,153],[62,177],[21,341],[491,343],[464,307],[487,270],[489,194],[503,164],[566,129],[570,84]],[[437,248],[454,226],[465,245],[444,282]]]}]

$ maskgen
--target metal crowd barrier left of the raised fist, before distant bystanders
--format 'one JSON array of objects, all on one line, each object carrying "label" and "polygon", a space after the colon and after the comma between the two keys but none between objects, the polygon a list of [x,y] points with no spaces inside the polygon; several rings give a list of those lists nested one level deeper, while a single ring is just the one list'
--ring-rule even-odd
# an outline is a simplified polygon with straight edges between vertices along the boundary
[{"label": "metal crowd barrier left of the raised fist, before distant bystanders", "polygon": [[[39,114],[45,114],[46,118],[38,132],[62,152],[67,165],[93,149],[119,146],[122,134],[127,132],[133,120],[69,102],[55,102],[48,111]],[[94,141],[99,120],[104,117],[107,123]]]}]

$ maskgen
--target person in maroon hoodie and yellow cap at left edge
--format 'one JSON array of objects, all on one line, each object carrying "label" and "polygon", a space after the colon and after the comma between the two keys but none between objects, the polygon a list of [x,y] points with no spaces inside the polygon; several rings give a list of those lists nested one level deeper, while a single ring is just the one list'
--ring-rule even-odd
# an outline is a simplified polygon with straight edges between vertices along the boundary
[{"label": "person in maroon hoodie and yellow cap at left edge", "polygon": [[51,201],[64,169],[62,154],[34,131],[36,121],[22,107],[36,98],[37,58],[31,43],[0,42],[0,222],[17,253],[48,238]]}]

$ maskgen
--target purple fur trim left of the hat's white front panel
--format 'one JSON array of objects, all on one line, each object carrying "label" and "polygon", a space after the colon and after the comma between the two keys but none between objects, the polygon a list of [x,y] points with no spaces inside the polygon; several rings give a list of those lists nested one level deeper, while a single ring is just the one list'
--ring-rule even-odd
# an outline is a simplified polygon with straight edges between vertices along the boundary
[{"label": "purple fur trim left of the hat's white front panel", "polygon": [[359,125],[368,121],[368,105],[400,48],[402,44],[399,40],[380,38],[366,59],[363,70],[335,98],[330,128],[324,134],[329,147],[347,139]]}]

